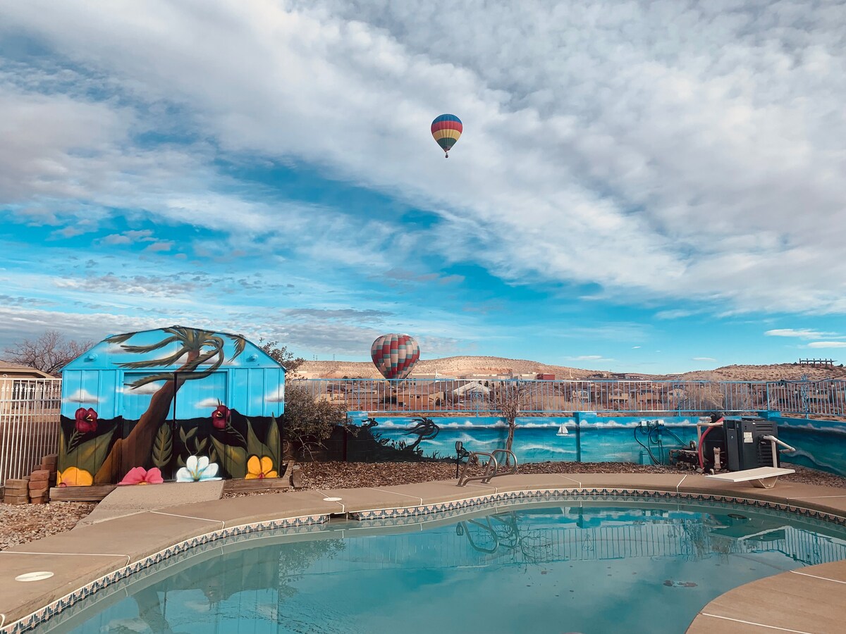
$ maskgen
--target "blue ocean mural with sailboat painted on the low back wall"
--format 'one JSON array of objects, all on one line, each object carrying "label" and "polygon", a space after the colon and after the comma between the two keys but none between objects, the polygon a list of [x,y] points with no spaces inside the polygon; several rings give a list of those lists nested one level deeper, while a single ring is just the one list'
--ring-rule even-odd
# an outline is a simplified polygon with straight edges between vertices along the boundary
[{"label": "blue ocean mural with sailboat painted on the low back wall", "polygon": [[[508,426],[497,417],[428,418],[437,430],[419,438],[421,418],[362,418],[350,413],[359,435],[338,437],[326,459],[351,462],[455,460],[455,442],[467,451],[505,446]],[[797,451],[783,462],[846,475],[846,423],[805,418],[777,418],[779,438]],[[671,449],[696,440],[695,417],[525,417],[517,419],[514,454],[525,462],[634,462],[667,464]],[[655,431],[660,429],[659,431]],[[652,430],[651,439],[647,430]],[[362,433],[363,432],[363,433]],[[433,433],[434,432],[434,433]],[[660,435],[660,439],[658,438]],[[343,441],[343,447],[342,447]],[[639,442],[640,441],[640,442]],[[413,451],[409,451],[410,447]]]}]

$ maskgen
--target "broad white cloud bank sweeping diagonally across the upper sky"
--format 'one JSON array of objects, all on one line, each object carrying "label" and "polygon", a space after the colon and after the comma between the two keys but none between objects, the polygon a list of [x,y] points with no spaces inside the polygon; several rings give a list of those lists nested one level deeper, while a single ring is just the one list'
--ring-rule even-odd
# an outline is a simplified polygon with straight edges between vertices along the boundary
[{"label": "broad white cloud bank sweeping diagonally across the upper sky", "polygon": [[[830,255],[846,239],[838,3],[801,14],[676,0],[468,4],[459,38],[432,19],[453,3],[0,7],[6,28],[129,97],[39,94],[16,74],[0,94],[0,192],[19,213],[58,221],[65,212],[45,199],[83,201],[98,222],[130,199],[225,230],[233,246],[270,232],[268,249],[293,235],[309,258],[398,264],[386,250],[394,227],[380,221],[208,193],[220,147],[436,210],[442,221],[401,238],[398,253],[472,253],[507,280],[593,282],[618,301],[846,312],[846,260]],[[162,101],[213,143],[134,145],[135,132],[172,123],[145,113]],[[428,138],[443,111],[465,123],[449,161]]]}]

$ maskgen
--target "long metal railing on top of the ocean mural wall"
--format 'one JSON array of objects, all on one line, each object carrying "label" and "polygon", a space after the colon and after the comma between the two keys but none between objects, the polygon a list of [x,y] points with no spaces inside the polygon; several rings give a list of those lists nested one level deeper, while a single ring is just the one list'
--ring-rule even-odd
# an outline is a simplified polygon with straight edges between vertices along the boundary
[{"label": "long metal railing on top of the ocean mural wall", "polygon": [[719,411],[846,415],[846,381],[653,380],[372,380],[288,382],[319,401],[367,413],[503,413],[519,415],[676,413]]}]

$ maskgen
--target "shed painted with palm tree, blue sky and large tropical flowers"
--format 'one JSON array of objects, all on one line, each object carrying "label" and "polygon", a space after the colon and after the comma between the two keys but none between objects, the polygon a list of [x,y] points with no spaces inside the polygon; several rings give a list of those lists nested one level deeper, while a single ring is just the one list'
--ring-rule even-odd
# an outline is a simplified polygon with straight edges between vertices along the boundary
[{"label": "shed painted with palm tree, blue sky and large tropical flowers", "polygon": [[108,336],[62,370],[57,484],[277,477],[284,393],[282,365],[240,335]]}]

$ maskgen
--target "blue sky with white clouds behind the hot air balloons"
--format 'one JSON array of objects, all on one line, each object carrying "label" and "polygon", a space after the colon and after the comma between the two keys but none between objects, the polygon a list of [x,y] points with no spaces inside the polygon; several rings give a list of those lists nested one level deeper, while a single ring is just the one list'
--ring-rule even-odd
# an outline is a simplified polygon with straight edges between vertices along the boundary
[{"label": "blue sky with white clouds behind the hot air balloons", "polygon": [[844,99],[835,0],[0,0],[0,349],[840,363]]}]

